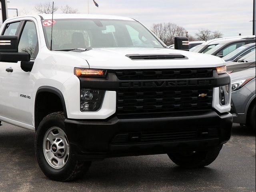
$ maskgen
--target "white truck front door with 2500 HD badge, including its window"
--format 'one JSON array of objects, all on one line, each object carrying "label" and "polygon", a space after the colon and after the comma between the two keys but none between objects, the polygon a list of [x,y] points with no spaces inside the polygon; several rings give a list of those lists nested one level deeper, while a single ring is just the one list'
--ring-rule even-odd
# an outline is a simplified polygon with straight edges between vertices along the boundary
[{"label": "white truck front door with 2500 HD badge, including its window", "polygon": [[[19,38],[18,52],[30,54],[34,61],[38,53],[38,36],[36,25],[32,20],[22,21]],[[30,72],[24,72],[18,63],[2,63],[1,73],[4,72],[0,90],[4,96],[0,101],[0,116],[33,125],[33,79]],[[4,67],[3,67],[4,66]],[[11,69],[7,70],[6,68]]]}]

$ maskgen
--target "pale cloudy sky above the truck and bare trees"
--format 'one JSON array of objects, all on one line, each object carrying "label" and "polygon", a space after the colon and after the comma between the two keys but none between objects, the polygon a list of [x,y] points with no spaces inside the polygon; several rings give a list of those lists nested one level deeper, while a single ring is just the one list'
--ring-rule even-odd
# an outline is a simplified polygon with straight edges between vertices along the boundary
[{"label": "pale cloudy sky above the truck and bare trees", "polygon": [[[19,14],[35,14],[34,6],[49,0],[8,0],[8,8]],[[108,14],[136,18],[149,28],[153,24],[172,22],[194,36],[199,29],[220,31],[223,37],[252,35],[253,0],[54,0],[56,6],[66,4],[80,13]],[[56,12],[60,13],[60,9]],[[9,18],[16,11],[9,10]]]}]

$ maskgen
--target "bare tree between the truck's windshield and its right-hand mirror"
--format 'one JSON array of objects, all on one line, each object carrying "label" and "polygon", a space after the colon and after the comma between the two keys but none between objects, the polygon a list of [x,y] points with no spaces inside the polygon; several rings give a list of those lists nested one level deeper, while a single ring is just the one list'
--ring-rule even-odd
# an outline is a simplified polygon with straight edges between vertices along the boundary
[{"label": "bare tree between the truck's windshield and its right-hand mirror", "polygon": [[152,26],[152,31],[166,44],[174,44],[175,36],[184,36],[186,30],[174,23],[159,23]]}]

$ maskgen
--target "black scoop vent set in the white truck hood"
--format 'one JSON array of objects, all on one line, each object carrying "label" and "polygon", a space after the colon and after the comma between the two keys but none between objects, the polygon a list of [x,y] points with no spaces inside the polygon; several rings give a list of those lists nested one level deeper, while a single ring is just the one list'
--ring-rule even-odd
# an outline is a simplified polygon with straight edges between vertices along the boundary
[{"label": "black scoop vent set in the white truck hood", "polygon": [[172,60],[172,59],[188,59],[186,56],[182,54],[133,54],[126,55],[126,57],[131,60]]}]

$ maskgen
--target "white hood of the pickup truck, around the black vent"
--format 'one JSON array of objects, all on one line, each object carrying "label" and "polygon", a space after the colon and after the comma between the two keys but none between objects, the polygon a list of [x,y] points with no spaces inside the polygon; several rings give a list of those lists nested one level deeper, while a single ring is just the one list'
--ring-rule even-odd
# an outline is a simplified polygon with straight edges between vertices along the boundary
[{"label": "white hood of the pickup truck, around the black vent", "polygon": [[[93,48],[85,52],[65,53],[83,58],[94,69],[208,68],[224,65],[224,60],[216,56],[168,48]],[[188,59],[132,60],[126,56],[129,54],[182,54]]]}]

